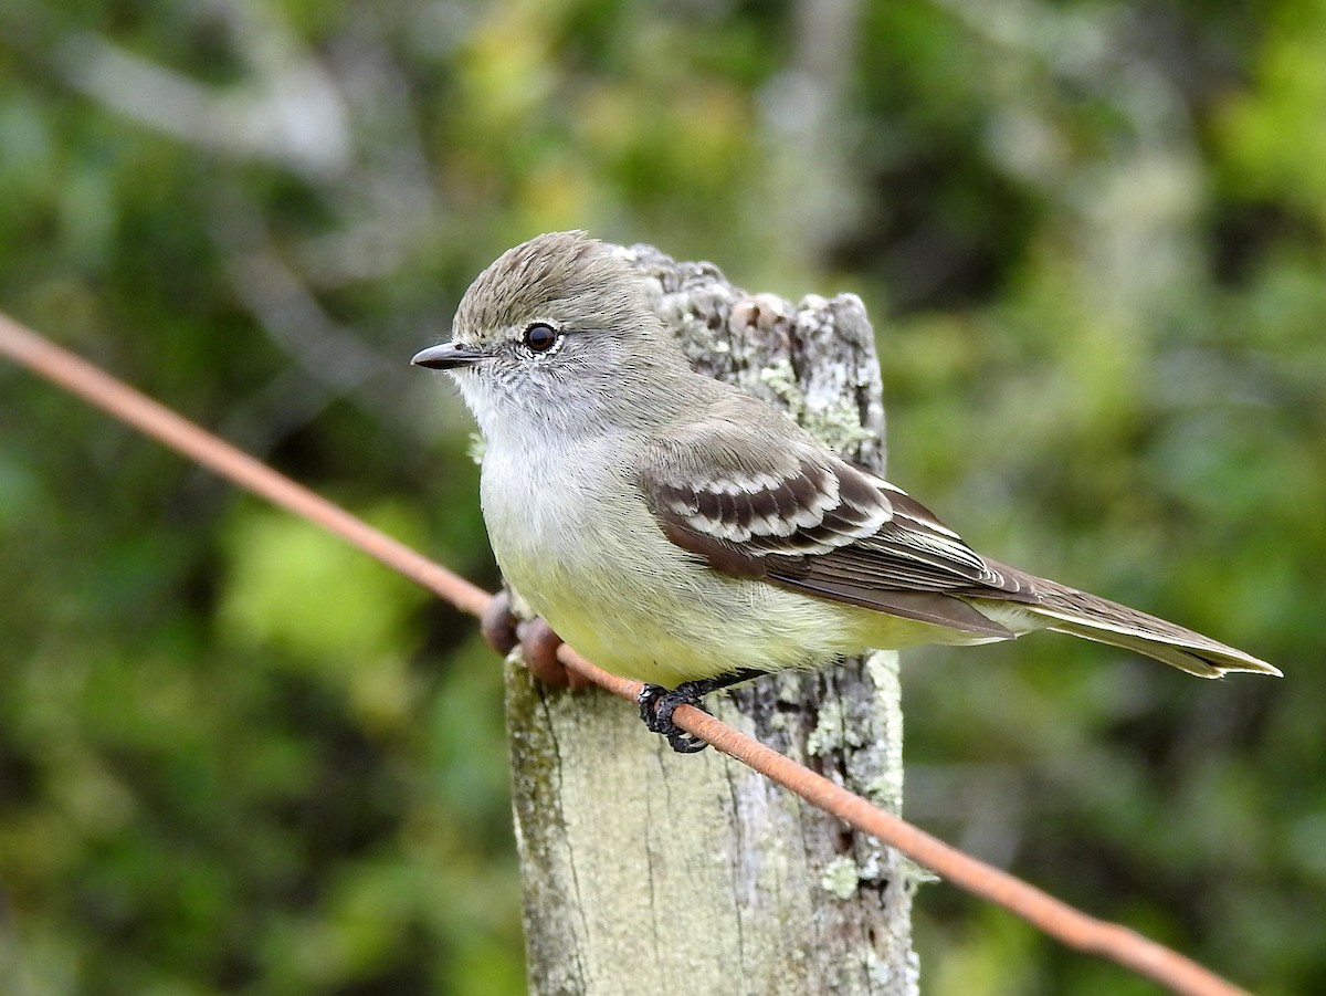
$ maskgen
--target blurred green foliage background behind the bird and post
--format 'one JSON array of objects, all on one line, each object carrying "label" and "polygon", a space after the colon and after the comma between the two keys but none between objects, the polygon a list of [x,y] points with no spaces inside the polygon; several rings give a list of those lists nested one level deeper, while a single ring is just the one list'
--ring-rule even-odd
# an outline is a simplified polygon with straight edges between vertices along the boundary
[{"label": "blurred green foliage background behind the bird and post", "polygon": [[[11,4],[0,306],[493,585],[471,424],[407,359],[497,252],[583,227],[859,292],[899,483],[1288,674],[914,654],[910,814],[1321,992],[1322,66],[1322,0]],[[8,991],[520,992],[473,623],[0,391]],[[936,996],[1148,991],[944,886],[918,943]]]}]

